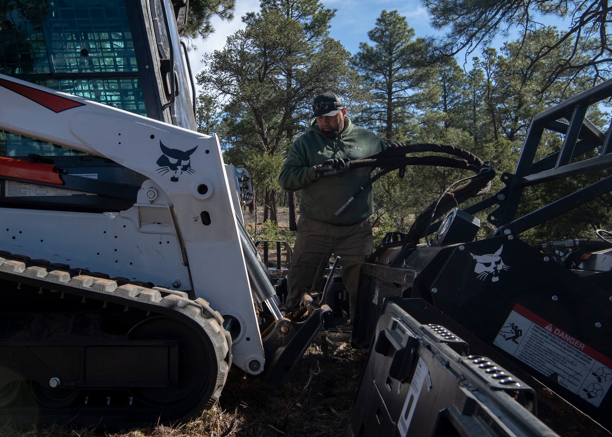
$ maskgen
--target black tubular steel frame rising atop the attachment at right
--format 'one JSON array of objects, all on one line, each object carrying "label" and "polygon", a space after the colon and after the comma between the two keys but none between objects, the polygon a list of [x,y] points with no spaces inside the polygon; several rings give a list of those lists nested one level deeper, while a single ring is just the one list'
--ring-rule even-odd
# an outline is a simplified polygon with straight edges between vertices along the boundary
[{"label": "black tubular steel frame rising atop the attachment at right", "polygon": [[[514,173],[502,173],[500,176],[506,187],[494,196],[467,207],[465,211],[475,214],[497,204],[498,207],[487,216],[488,222],[496,226],[495,234],[520,234],[612,191],[612,176],[608,176],[529,214],[515,218],[524,188],[612,167],[612,122],[608,132],[603,133],[585,117],[589,106],[610,97],[612,80],[534,116]],[[559,121],[560,119],[569,123]],[[561,150],[534,162],[545,129],[564,134],[563,145]],[[599,148],[599,156],[576,160],[595,148]],[[436,229],[435,224],[431,225],[430,231]]]}]

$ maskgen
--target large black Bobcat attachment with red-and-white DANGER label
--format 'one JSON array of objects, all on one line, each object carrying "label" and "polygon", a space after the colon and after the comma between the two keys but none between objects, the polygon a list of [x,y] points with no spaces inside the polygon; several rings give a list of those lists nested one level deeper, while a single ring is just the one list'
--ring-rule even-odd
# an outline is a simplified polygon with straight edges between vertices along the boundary
[{"label": "large black Bobcat attachment with red-and-white DANGER label", "polygon": [[[609,80],[536,114],[525,131],[515,170],[500,175],[504,187],[463,211],[455,207],[455,200],[461,200],[458,189],[454,198],[449,198],[453,192],[447,193],[447,201],[441,196],[436,202],[442,206],[440,211],[430,206],[409,234],[387,233],[368,258],[360,278],[353,345],[370,349],[370,354],[353,409],[353,429],[349,430],[353,436],[390,435],[393,431],[387,430],[401,422],[406,425],[399,426],[401,435],[489,435],[488,430],[472,431],[477,428],[470,425],[468,430],[465,425],[476,425],[472,419],[476,418],[490,426],[504,417],[503,405],[492,420],[485,419],[486,413],[479,411],[476,403],[468,409],[464,408],[468,403],[455,405],[454,411],[450,405],[460,398],[452,395],[452,390],[465,388],[457,386],[461,363],[478,372],[481,381],[488,379],[487,387],[477,389],[483,394],[480,400],[490,389],[495,390],[496,400],[502,386],[512,387],[514,392],[524,389],[523,383],[521,387],[512,384],[523,381],[537,395],[537,411],[533,408],[535,398],[524,403],[524,409],[531,406],[532,412],[559,435],[567,435],[568,430],[585,436],[610,435],[612,240],[595,228],[595,224],[606,223],[605,206],[584,205],[595,200],[605,205],[612,190],[612,129],[602,132],[585,117],[589,107],[597,108],[611,95]],[[561,148],[554,152],[549,149],[551,132],[562,138]],[[486,174],[480,173],[482,167],[470,184],[475,185],[476,179]],[[534,197],[529,197],[534,195],[535,203]],[[445,201],[455,211],[451,210],[439,226],[431,225],[431,233],[437,230],[434,244],[412,244],[424,234],[422,223],[427,225],[433,215],[439,217],[446,209]],[[570,211],[571,215],[564,215]],[[475,239],[477,222],[473,218],[479,212],[486,214],[487,226],[494,232]],[[581,237],[590,233],[588,223],[599,239]],[[418,233],[412,233],[415,228]],[[528,230],[533,231],[527,234],[528,241],[523,241],[520,235]],[[557,236],[566,239],[558,240]],[[547,240],[536,245],[531,242],[535,238]],[[392,311],[383,307],[392,307]],[[442,338],[424,335],[427,326],[436,327],[436,334],[446,334]],[[418,375],[430,376],[431,387],[415,379],[417,372],[402,379],[405,374],[397,372],[394,364],[406,362],[406,355],[398,356],[400,348],[380,347],[390,343],[385,337],[397,338],[400,328],[404,331],[401,335],[412,331],[408,335],[421,337],[416,354],[420,349],[424,355],[414,356],[409,348],[405,354],[414,356],[413,362],[424,361],[429,370]],[[469,351],[455,350],[461,357],[443,358],[444,351],[438,353],[437,343],[457,346],[456,338],[465,341]],[[403,346],[409,341],[397,343]],[[449,375],[452,382],[444,383],[443,372],[432,370],[440,362],[445,364],[443,372],[455,369]],[[468,373],[461,384],[468,381]],[[491,384],[491,380],[498,382]],[[408,382],[409,390],[427,387],[420,390],[420,398],[406,393]],[[436,384],[444,388],[444,395],[435,393]],[[405,394],[401,390],[406,390]],[[436,404],[446,396],[447,405]],[[515,393],[512,397],[517,398]],[[455,414],[457,410],[459,414]],[[515,419],[523,422],[515,422],[521,433],[513,431],[513,435],[556,435],[541,426],[528,432],[537,419],[518,408],[512,410],[506,423]],[[435,421],[441,426],[432,433]]]}]

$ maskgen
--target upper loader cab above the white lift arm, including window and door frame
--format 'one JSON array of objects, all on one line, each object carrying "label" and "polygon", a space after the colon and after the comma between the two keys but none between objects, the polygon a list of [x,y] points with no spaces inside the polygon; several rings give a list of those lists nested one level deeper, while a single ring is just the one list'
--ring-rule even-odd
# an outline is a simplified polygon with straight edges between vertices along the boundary
[{"label": "upper loader cab above the white lift arm, including window and door frame", "polygon": [[186,18],[182,0],[1,2],[0,73],[195,130]]}]

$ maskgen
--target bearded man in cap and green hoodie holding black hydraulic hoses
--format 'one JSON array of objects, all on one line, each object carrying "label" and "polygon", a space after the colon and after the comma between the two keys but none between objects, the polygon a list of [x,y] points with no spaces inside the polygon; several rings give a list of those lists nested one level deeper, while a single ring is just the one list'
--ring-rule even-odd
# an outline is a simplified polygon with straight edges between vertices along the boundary
[{"label": "bearded man in cap and green hoodie holding black hydraulic hoses", "polygon": [[289,268],[289,308],[299,305],[302,289],[310,289],[325,253],[340,256],[342,280],[349,294],[350,317],[357,302],[359,270],[372,252],[372,189],[368,187],[339,217],[334,215],[370,178],[373,168],[345,173],[351,159],[378,153],[386,143],[375,133],[351,123],[346,106],[327,91],[313,103],[310,131],[291,145],[278,182],[288,191],[302,190],[297,239]]}]

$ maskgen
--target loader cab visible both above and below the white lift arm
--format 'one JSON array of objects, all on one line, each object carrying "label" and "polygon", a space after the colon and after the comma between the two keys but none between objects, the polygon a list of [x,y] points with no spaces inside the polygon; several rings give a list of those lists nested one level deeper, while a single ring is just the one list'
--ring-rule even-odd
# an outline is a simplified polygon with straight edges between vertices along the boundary
[{"label": "loader cab visible both above and below the white lift arm", "polygon": [[[182,0],[3,1],[0,74],[196,130],[195,88],[179,40],[186,23]],[[147,179],[103,157],[1,129],[0,156],[133,187]],[[118,212],[136,201],[86,190],[41,195],[18,184],[0,180],[0,207]]]}]

